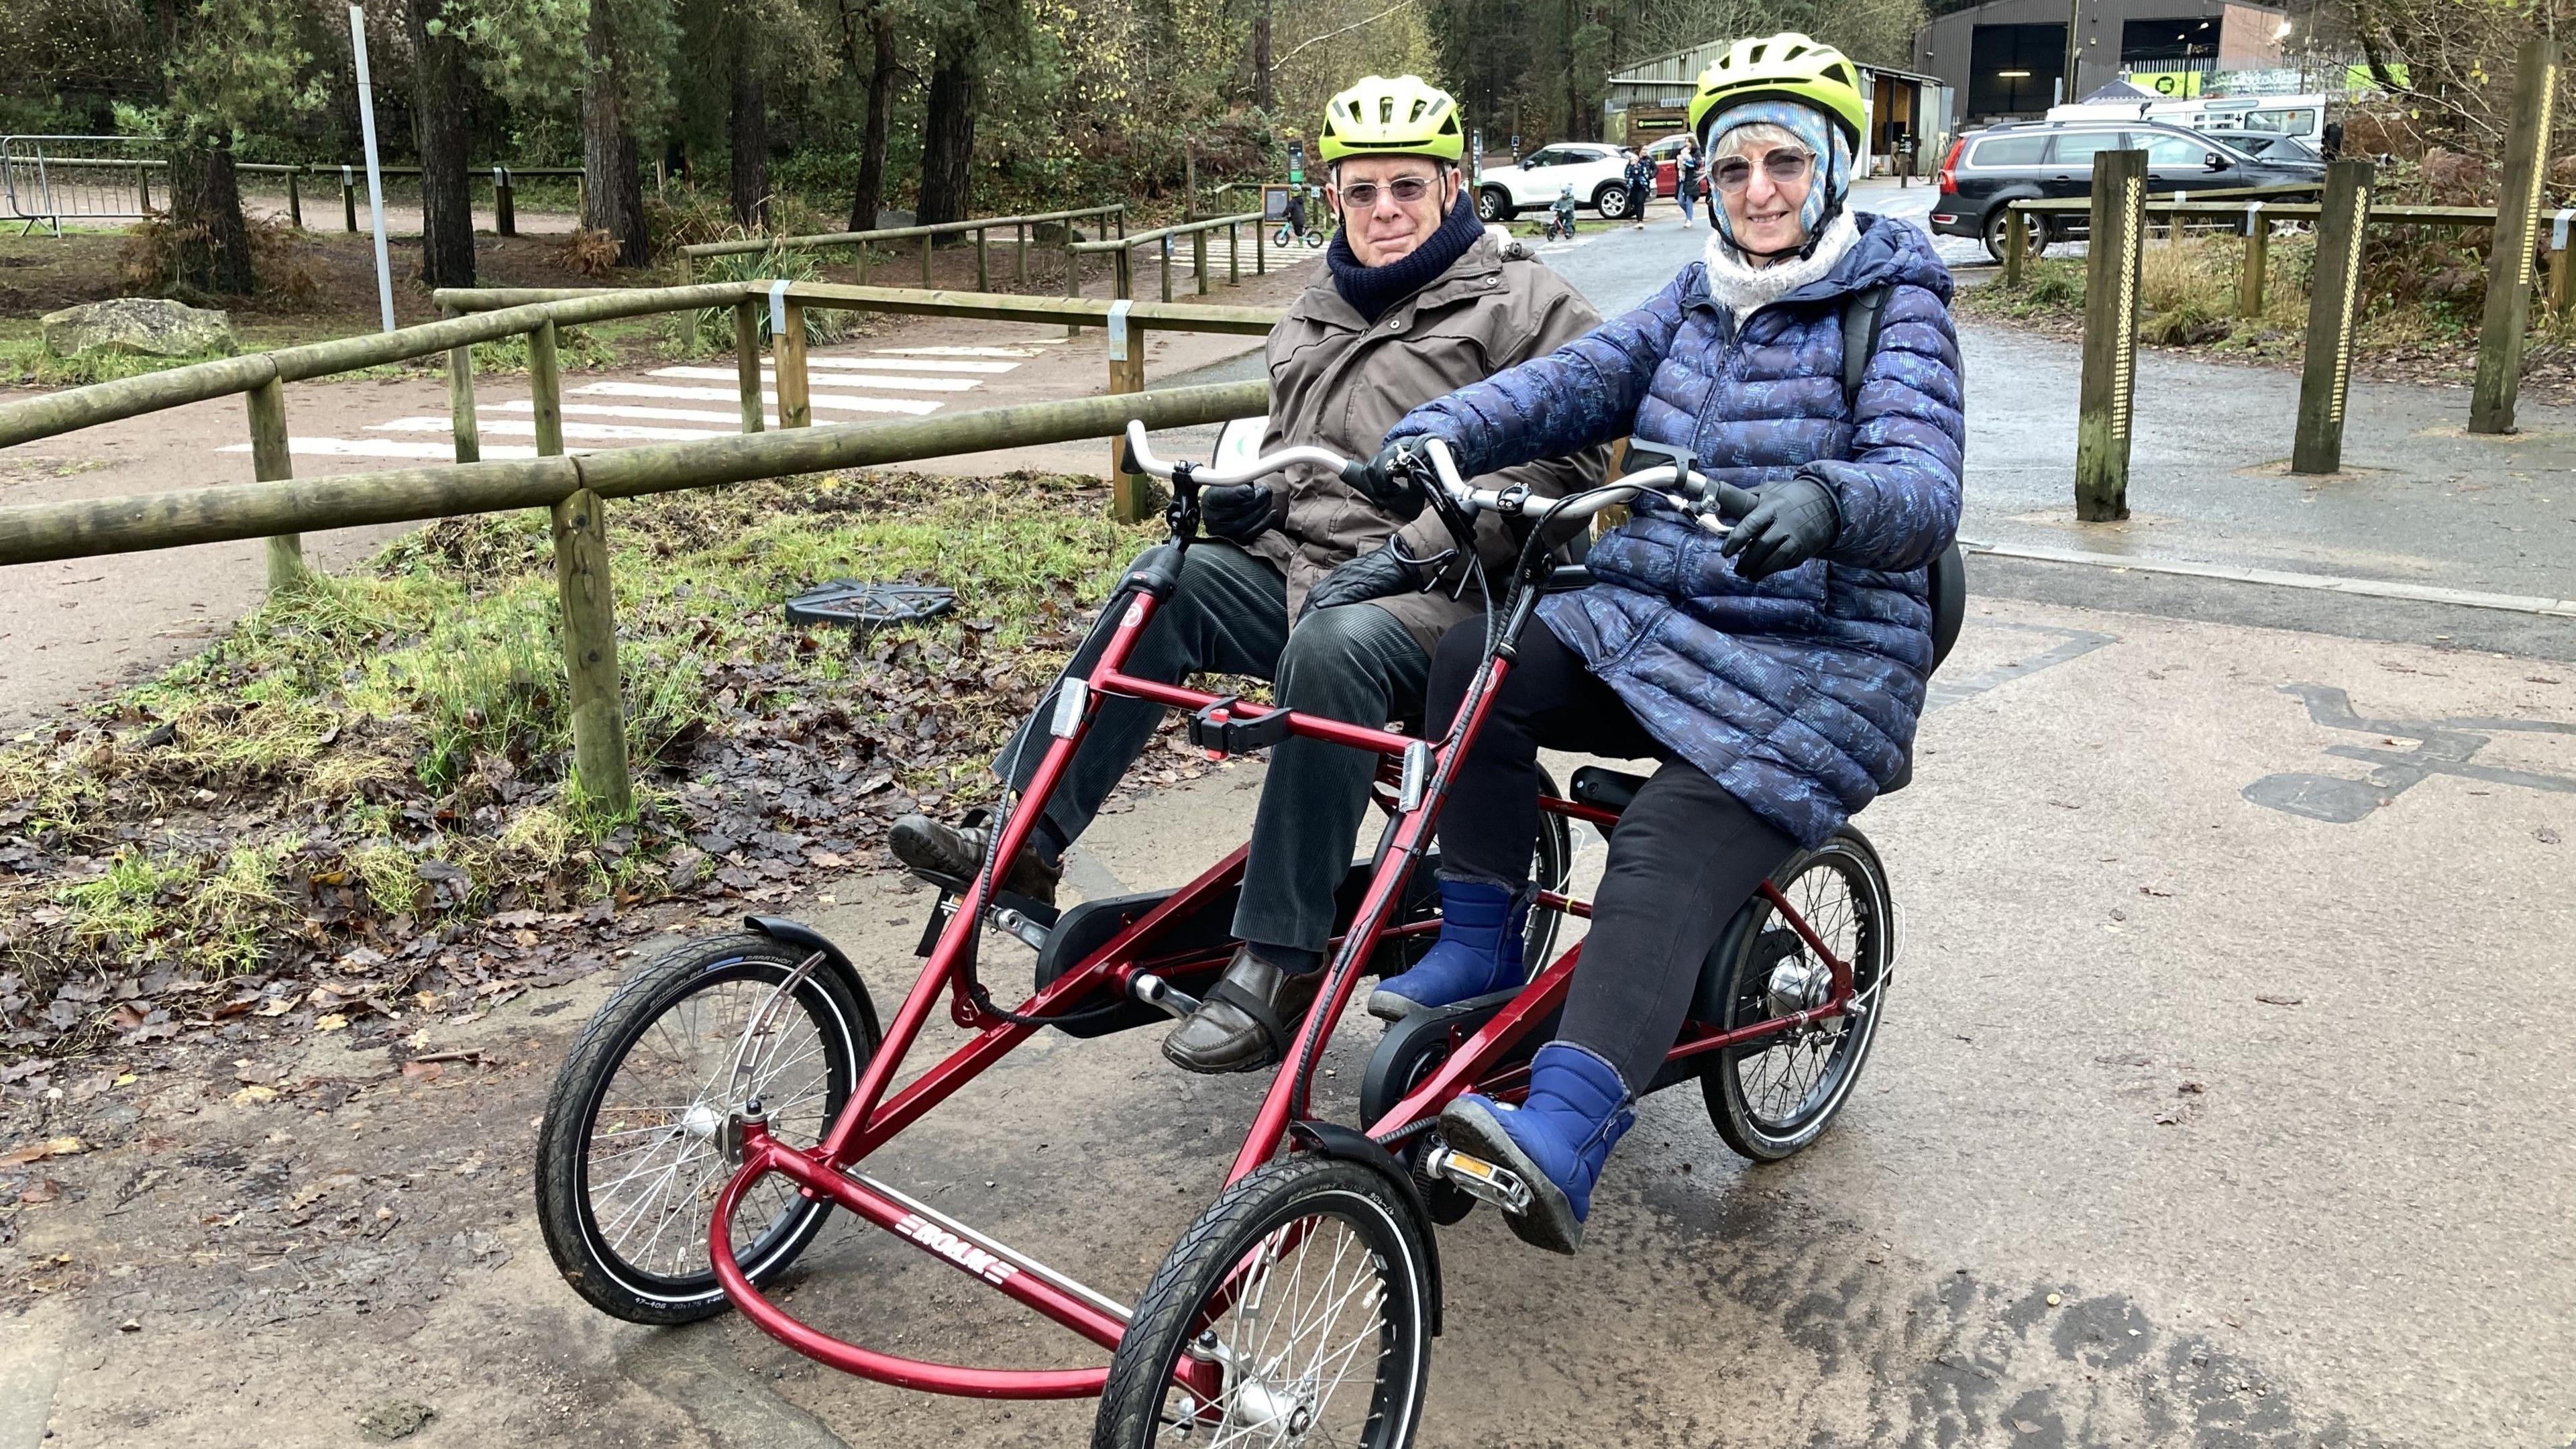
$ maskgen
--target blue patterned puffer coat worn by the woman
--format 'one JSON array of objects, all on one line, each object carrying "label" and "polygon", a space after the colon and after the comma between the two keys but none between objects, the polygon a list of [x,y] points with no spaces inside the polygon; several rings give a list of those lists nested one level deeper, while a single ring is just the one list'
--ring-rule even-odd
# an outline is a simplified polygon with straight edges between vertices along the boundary
[{"label": "blue patterned puffer coat worn by the woman", "polygon": [[[1388,431],[1448,438],[1468,477],[1631,433],[1687,443],[1739,487],[1801,472],[1832,487],[1842,531],[1795,570],[1747,583],[1723,539],[1651,505],[1595,544],[1600,583],[1540,606],[1656,740],[1803,846],[1878,797],[1914,743],[1924,565],[1958,531],[1965,449],[1950,271],[1919,229],[1857,224],[1832,273],[1741,333],[1690,263],[1636,312]],[[1842,299],[1870,286],[1891,286],[1886,320],[1847,407]]]}]

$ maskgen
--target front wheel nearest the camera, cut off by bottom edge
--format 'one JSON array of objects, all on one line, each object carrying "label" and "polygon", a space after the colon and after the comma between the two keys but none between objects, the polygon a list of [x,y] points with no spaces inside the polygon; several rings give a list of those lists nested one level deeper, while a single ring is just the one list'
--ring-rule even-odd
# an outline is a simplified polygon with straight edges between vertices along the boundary
[{"label": "front wheel nearest the camera, cut off by bottom edge", "polygon": [[1229,1186],[1136,1305],[1092,1449],[1412,1444],[1430,1374],[1422,1235],[1360,1163],[1288,1158]]}]

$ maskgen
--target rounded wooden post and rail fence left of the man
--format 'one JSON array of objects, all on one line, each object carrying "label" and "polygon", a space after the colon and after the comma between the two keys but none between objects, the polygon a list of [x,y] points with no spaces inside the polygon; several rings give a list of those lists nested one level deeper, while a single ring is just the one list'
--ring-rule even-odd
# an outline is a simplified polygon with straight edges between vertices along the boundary
[{"label": "rounded wooden post and rail fence left of the man", "polygon": [[[1069,327],[1123,322],[1131,327],[1128,335],[1139,340],[1146,327],[1265,335],[1280,317],[1278,312],[1252,307],[1164,307],[1115,299],[835,284],[762,286],[757,281],[649,291],[448,289],[438,291],[438,304],[448,312],[440,322],[247,353],[0,402],[0,449],[5,449],[188,402],[242,394],[255,477],[255,482],[229,487],[0,508],[0,567],[229,539],[265,539],[270,588],[291,588],[307,572],[301,536],[317,529],[544,508],[554,536],[554,578],[562,608],[572,773],[587,802],[600,810],[626,812],[634,802],[634,781],[626,761],[616,608],[608,578],[608,500],[1074,438],[1118,438],[1131,418],[1144,420],[1146,428],[1188,428],[1257,415],[1270,405],[1265,382],[1144,392],[1144,351],[1139,345],[1133,366],[1113,364],[1113,392],[1103,397],[814,428],[811,413],[804,405],[809,394],[804,309],[987,317],[1038,325],[1061,322]],[[556,364],[562,327],[708,307],[729,309],[734,320],[742,436],[567,456],[562,371]],[[762,389],[757,351],[760,307],[775,307],[783,315],[783,325],[775,327],[778,348],[773,351],[775,394],[765,394]],[[482,436],[474,410],[474,343],[513,335],[528,338],[528,389],[538,456],[528,462],[482,462]],[[435,353],[446,353],[448,364],[456,464],[327,480],[294,477],[286,425],[289,382]],[[775,433],[762,428],[770,397],[775,397],[781,415],[781,431]],[[1131,480],[1115,490],[1115,513],[1121,518],[1141,518],[1144,505],[1146,498]]]}]

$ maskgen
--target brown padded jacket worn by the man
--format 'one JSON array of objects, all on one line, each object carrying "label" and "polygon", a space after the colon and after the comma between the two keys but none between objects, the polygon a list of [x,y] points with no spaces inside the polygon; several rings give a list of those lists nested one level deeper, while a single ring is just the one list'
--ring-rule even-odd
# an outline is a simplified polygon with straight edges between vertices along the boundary
[{"label": "brown padded jacket worn by the man", "polygon": [[[1504,253],[1494,232],[1476,240],[1422,291],[1396,302],[1376,322],[1360,315],[1316,268],[1288,317],[1270,330],[1270,428],[1262,451],[1321,446],[1370,459],[1386,431],[1409,410],[1471,382],[1546,356],[1600,325],[1600,315],[1566,278],[1530,260],[1517,245]],[[1479,480],[1479,487],[1528,485],[1556,498],[1602,480],[1607,449],[1548,459]],[[1288,492],[1285,521],[1252,541],[1252,552],[1288,575],[1288,616],[1306,606],[1306,590],[1340,562],[1365,554],[1399,531],[1391,513],[1342,485],[1321,467],[1291,467],[1270,477]],[[1404,549],[1417,559],[1448,552],[1450,536],[1430,511],[1401,526]],[[1479,552],[1510,567],[1512,544],[1499,518],[1476,521]],[[1450,585],[1463,562],[1440,570],[1437,588],[1373,601],[1396,616],[1422,652],[1450,624],[1484,611],[1476,585],[1461,598]]]}]

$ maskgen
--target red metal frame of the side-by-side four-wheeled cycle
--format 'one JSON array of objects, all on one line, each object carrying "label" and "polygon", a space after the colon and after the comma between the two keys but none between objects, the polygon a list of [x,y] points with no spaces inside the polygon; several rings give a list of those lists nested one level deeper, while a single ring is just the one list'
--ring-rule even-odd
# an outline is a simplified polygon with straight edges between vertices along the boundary
[{"label": "red metal frame of the side-by-side four-wheeled cycle", "polygon": [[[1110,634],[1108,650],[1100,655],[1090,678],[1084,681],[1082,719],[1069,735],[1054,737],[1046,748],[1046,758],[1038,763],[1036,776],[1020,797],[1018,810],[1010,812],[1002,841],[992,851],[989,861],[1012,861],[1028,843],[1028,830],[1046,807],[1048,794],[1064,776],[1066,763],[1082,745],[1082,737],[1092,724],[1090,701],[1097,696],[1128,696],[1149,699],[1154,704],[1167,704],[1175,709],[1206,709],[1218,704],[1218,696],[1195,688],[1180,688],[1170,683],[1157,683],[1146,678],[1133,678],[1121,673],[1121,665],[1144,634],[1144,627],[1154,619],[1159,608],[1159,596],[1151,590],[1139,590],[1126,614],[1118,619]],[[1340,938],[1340,949],[1332,957],[1327,972],[1327,985],[1316,995],[1314,1008],[1298,1026],[1278,1075],[1270,1083],[1270,1093],[1262,1098],[1260,1111],[1252,1119],[1252,1129],[1244,1134],[1242,1150],[1234,1155],[1234,1168],[1226,1181],[1234,1183],[1244,1173],[1252,1173],[1262,1163],[1291,1150],[1291,1122],[1306,1116],[1306,1085],[1309,1075],[1298,1070],[1301,1062],[1311,1062],[1321,1049],[1324,1039],[1334,1031],[1342,1011],[1350,1006],[1350,995],[1360,980],[1360,964],[1368,962],[1381,941],[1435,931],[1437,923],[1417,923],[1404,928],[1388,928],[1388,915],[1401,902],[1404,882],[1412,874],[1412,864],[1422,846],[1430,841],[1432,822],[1440,812],[1440,802],[1448,797],[1450,776],[1458,761],[1466,758],[1468,743],[1484,727],[1486,709],[1492,706],[1494,691],[1510,673],[1512,660],[1507,655],[1489,657],[1476,683],[1466,696],[1461,719],[1450,727],[1448,740],[1432,745],[1435,768],[1422,792],[1419,804],[1412,810],[1396,810],[1394,833],[1388,846],[1381,851],[1381,864],[1368,884],[1368,895],[1360,900],[1358,915],[1350,931]],[[1260,706],[1231,706],[1239,719],[1267,719],[1270,714],[1285,714],[1285,727],[1291,735],[1303,735],[1309,740],[1329,740],[1334,745],[1347,745],[1352,750],[1373,750],[1378,755],[1396,758],[1417,740],[1406,735],[1394,735],[1388,730],[1368,730],[1360,724],[1342,724],[1337,719],[1319,719],[1296,712],[1265,712]],[[1543,799],[1543,810],[1566,815],[1574,820],[1589,820],[1595,825],[1615,825],[1618,815],[1610,810],[1597,810],[1589,804],[1577,804],[1569,799]],[[1146,951],[1154,946],[1157,931],[1164,923],[1185,915],[1190,908],[1206,902],[1213,892],[1231,887],[1242,879],[1244,851],[1236,848],[1224,861],[1211,866],[1195,882],[1172,892],[1170,900],[1157,905],[1151,913],[1136,923],[1118,931],[1108,944],[1092,951],[1082,964],[1064,972],[1010,1016],[1023,1018],[1048,1018],[1066,1016],[1072,1011],[1084,1011],[1100,1006],[1103,1000],[1128,1000],[1131,987],[1139,975],[1211,975],[1224,964],[1221,954],[1198,957],[1167,957],[1151,959]],[[886,1029],[884,1042],[868,1057],[860,1073],[858,1091],[842,1106],[840,1116],[832,1122],[824,1140],[814,1147],[791,1147],[768,1134],[768,1127],[757,1119],[742,1124],[742,1165],[734,1171],[732,1181],[714,1204],[714,1222],[708,1225],[708,1253],[714,1258],[716,1279],[724,1284],[724,1294],[760,1325],[762,1333],[778,1338],[799,1354],[829,1364],[835,1369],[860,1374],[868,1379],[902,1385],[912,1390],[945,1392],[945,1395],[974,1395],[974,1397],[1097,1397],[1108,1382],[1108,1366],[1100,1369],[971,1369],[958,1364],[930,1364],[920,1359],[902,1359],[894,1354],[876,1354],[855,1343],[845,1343],[809,1328],[806,1323],[786,1315],[778,1305],[760,1294],[757,1287],[734,1263],[732,1248],[732,1217],[742,1194],[768,1173],[781,1173],[793,1178],[806,1196],[832,1199],[835,1204],[850,1209],[853,1214],[894,1232],[896,1238],[912,1243],[914,1248],[948,1261],[953,1269],[981,1279],[984,1284],[999,1289],[1002,1294],[1033,1307],[1036,1312],[1072,1328],[1074,1333],[1100,1343],[1103,1348],[1118,1346],[1126,1333],[1128,1310],[1105,1294],[1087,1289],[1054,1269],[1046,1269],[1036,1258],[1018,1253],[992,1238],[966,1227],[927,1204],[912,1201],[904,1194],[860,1176],[855,1168],[876,1147],[891,1140],[896,1132],[909,1127],[925,1111],[945,1101],[961,1085],[974,1080],[984,1067],[1002,1060],[1005,1052],[1018,1047],[1033,1031],[1036,1021],[1012,1021],[1010,1016],[984,1011],[976,1006],[971,993],[969,962],[976,946],[974,936],[984,928],[984,902],[989,897],[987,871],[971,882],[966,895],[958,900],[956,913],[940,931],[938,946],[930,951],[927,964],[922,964],[920,977],[904,995],[894,1024]],[[1716,1052],[1721,1047],[1734,1047],[1752,1042],[1757,1036],[1770,1036],[1780,1031],[1793,1031],[1829,1016],[1842,1016],[1852,1003],[1852,967],[1837,957],[1816,936],[1816,931],[1790,908],[1770,882],[1762,884],[1770,908],[1824,959],[1832,969],[1829,998],[1795,1016],[1767,1018],[1754,1026],[1741,1026],[1734,1031],[1716,1031],[1700,1024],[1685,1026],[1685,1036],[1674,1044],[1669,1060],[1695,1057],[1703,1052]],[[1589,915],[1589,905],[1569,900],[1556,892],[1543,892],[1540,905],[1566,910],[1569,915]],[[1461,1042],[1450,1057],[1432,1070],[1432,1075],[1417,1085],[1401,1104],[1396,1104],[1381,1122],[1368,1127],[1370,1137],[1383,1145],[1399,1147],[1427,1132],[1440,1116],[1440,1106],[1463,1091],[1484,1091],[1489,1096],[1517,1096],[1525,1091],[1525,1067],[1494,1070],[1504,1052],[1512,1049],[1520,1036],[1525,1036],[1538,1021],[1564,1003],[1566,982],[1574,977],[1574,964],[1582,957],[1582,944],[1566,949],[1556,962],[1551,962],[1535,980],[1510,1006],[1504,1006],[1492,1021],[1486,1021],[1473,1036]],[[902,1067],[904,1055],[914,1047],[922,1026],[930,1021],[930,1011],[940,993],[948,993],[948,1016],[974,1031],[974,1036],[953,1049],[935,1067],[907,1083],[902,1091],[891,1091],[894,1073]],[[1195,1364],[1182,1356],[1182,1379],[1208,1377],[1208,1382],[1193,1382],[1188,1387],[1198,1390],[1203,1403],[1216,1397],[1216,1366]]]}]

